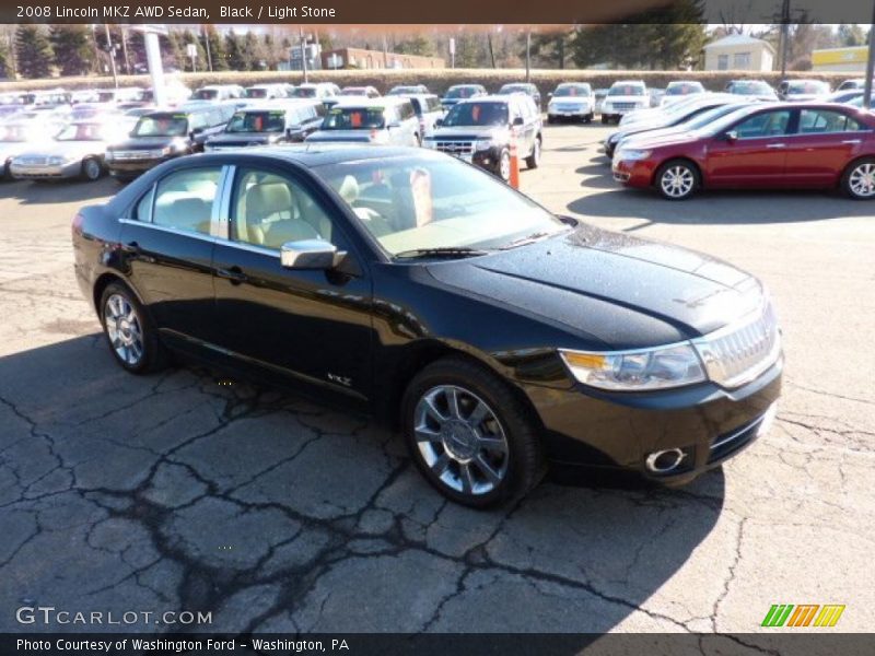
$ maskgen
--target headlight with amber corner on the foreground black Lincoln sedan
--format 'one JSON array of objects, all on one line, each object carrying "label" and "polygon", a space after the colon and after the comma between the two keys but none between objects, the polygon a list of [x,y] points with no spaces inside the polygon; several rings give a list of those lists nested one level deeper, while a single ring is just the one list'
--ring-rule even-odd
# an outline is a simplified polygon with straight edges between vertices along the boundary
[{"label": "headlight with amber corner on the foreground black Lincoln sedan", "polygon": [[599,389],[667,389],[707,379],[702,362],[689,343],[634,351],[559,353],[578,380]]}]

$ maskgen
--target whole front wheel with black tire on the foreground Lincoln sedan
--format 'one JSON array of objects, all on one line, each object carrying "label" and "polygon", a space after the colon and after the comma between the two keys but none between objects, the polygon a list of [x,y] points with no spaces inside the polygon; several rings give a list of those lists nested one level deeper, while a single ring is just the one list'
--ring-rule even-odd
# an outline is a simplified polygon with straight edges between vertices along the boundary
[{"label": "whole front wheel with black tire on the foreground Lincoln sedan", "polygon": [[506,383],[467,360],[446,358],[420,372],[401,420],[417,467],[456,503],[485,508],[518,499],[544,475],[526,408]]}]

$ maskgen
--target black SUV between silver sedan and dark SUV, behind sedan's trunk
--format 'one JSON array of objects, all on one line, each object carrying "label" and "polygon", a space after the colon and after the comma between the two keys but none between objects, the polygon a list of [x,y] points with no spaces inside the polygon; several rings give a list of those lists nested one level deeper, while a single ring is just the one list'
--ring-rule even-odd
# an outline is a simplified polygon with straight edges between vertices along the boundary
[{"label": "black SUV between silver sedan and dark SUV, behind sedan's trunk", "polygon": [[233,105],[150,112],[137,121],[127,140],[106,149],[106,166],[119,180],[130,180],[156,164],[203,150],[234,114]]}]

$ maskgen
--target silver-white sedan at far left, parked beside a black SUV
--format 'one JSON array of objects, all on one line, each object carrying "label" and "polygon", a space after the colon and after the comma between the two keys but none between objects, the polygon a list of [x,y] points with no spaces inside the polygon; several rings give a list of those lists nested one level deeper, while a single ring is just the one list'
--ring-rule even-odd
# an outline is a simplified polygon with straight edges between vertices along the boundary
[{"label": "silver-white sedan at far left, parked beside a black SUV", "polygon": [[96,180],[105,171],[106,147],[122,137],[118,125],[81,121],[67,126],[38,147],[23,150],[10,164],[15,179],[47,180],[81,177]]}]

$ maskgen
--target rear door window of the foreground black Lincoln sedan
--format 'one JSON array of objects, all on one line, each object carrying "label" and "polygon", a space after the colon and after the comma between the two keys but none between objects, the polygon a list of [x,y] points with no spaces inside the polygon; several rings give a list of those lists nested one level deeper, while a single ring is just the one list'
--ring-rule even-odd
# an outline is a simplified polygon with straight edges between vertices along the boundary
[{"label": "rear door window of the foreground black Lincoln sedan", "polygon": [[221,166],[209,166],[187,168],[163,178],[154,192],[152,223],[209,235],[221,175]]}]

